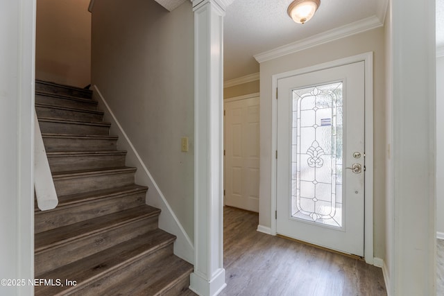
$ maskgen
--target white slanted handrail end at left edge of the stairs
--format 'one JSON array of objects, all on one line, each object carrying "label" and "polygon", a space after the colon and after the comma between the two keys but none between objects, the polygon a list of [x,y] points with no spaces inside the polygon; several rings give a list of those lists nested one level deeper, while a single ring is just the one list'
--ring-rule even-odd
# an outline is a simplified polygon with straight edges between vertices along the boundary
[{"label": "white slanted handrail end at left edge of the stairs", "polygon": [[42,132],[40,132],[37,114],[34,127],[34,189],[37,207],[42,211],[57,207],[58,198],[53,176],[49,168],[48,157],[44,148]]}]

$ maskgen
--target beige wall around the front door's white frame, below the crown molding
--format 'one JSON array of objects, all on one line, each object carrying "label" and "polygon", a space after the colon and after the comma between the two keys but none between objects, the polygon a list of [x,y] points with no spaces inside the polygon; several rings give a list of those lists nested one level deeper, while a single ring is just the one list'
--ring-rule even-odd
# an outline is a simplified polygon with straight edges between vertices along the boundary
[{"label": "beige wall around the front door's white frame, below the crown molding", "polygon": [[384,28],[352,35],[333,42],[315,46],[281,58],[262,62],[260,65],[261,89],[261,175],[259,189],[259,225],[271,226],[271,76],[295,69],[347,58],[373,51],[373,113],[374,113],[374,254],[385,256],[385,166],[386,166],[386,94]]}]

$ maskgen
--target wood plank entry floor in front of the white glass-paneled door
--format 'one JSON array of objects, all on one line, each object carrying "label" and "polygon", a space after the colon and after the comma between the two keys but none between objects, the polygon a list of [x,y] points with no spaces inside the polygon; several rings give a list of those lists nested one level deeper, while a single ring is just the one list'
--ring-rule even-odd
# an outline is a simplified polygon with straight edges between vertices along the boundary
[{"label": "wood plank entry floor in front of the white glass-paneled door", "polygon": [[223,296],[386,295],[382,270],[364,261],[257,232],[255,213],[224,208]]}]

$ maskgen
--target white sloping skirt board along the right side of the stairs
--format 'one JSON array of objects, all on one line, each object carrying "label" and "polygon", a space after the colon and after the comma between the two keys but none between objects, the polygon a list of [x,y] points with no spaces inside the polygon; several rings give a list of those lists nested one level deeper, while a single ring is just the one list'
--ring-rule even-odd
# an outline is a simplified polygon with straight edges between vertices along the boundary
[{"label": "white sloping skirt board along the right side of the stairs", "polygon": [[133,143],[131,143],[126,132],[114,116],[110,106],[106,103],[99,87],[94,85],[92,90],[93,98],[99,102],[99,108],[105,112],[105,120],[111,123],[112,133],[119,136],[119,147],[127,150],[126,163],[137,168],[135,181],[149,188],[146,195],[146,204],[162,210],[159,216],[159,228],[177,237],[174,242],[174,254],[194,264],[194,243],[191,242],[191,239],[187,232],[185,232],[176,214],[174,214],[167,199],[164,197],[162,191],[160,191],[159,186],[157,186],[153,176],[148,171],[148,168],[146,168],[139,153],[137,153]]}]

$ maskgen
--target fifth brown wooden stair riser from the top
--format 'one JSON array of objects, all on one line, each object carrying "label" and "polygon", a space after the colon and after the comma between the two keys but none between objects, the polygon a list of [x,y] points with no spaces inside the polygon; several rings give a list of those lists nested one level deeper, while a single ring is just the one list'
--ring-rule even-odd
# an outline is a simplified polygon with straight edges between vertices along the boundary
[{"label": "fifth brown wooden stair riser from the top", "polygon": [[73,139],[43,137],[43,143],[46,152],[117,150],[116,139]]}]

